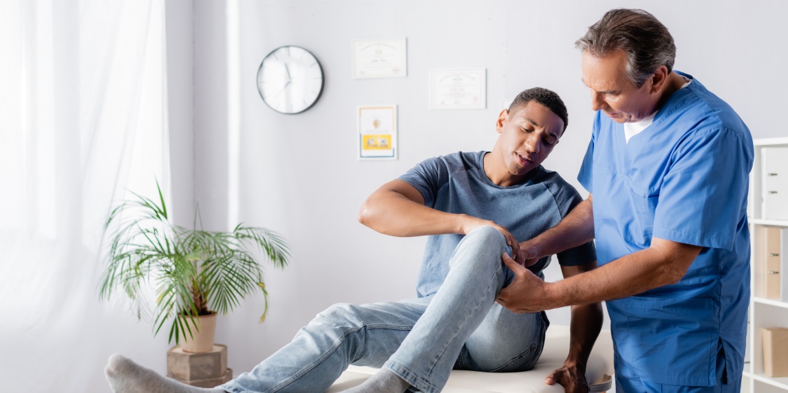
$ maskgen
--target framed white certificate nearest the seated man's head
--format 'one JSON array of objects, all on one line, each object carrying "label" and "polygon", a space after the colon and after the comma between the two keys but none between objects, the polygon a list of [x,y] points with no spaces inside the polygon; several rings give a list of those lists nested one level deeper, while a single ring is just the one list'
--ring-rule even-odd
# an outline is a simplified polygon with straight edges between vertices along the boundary
[{"label": "framed white certificate nearest the seated man's head", "polygon": [[485,68],[429,71],[430,109],[484,109],[486,90]]}]

